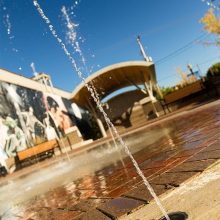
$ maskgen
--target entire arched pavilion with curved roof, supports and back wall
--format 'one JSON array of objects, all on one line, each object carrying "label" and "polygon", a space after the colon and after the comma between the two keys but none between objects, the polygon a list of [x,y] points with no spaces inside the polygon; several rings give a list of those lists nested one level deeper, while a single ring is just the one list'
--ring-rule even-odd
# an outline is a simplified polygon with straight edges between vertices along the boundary
[{"label": "entire arched pavilion with curved roof, supports and back wall", "polygon": [[[159,116],[158,111],[161,107],[154,95],[160,94],[160,89],[157,85],[154,63],[150,60],[128,61],[104,67],[90,75],[85,82],[87,86],[81,83],[74,89],[71,100],[89,110],[103,137],[108,135],[109,125],[92,98],[91,90],[111,122],[120,130]],[[124,91],[103,102],[107,96],[129,86],[135,87],[136,90]]]}]

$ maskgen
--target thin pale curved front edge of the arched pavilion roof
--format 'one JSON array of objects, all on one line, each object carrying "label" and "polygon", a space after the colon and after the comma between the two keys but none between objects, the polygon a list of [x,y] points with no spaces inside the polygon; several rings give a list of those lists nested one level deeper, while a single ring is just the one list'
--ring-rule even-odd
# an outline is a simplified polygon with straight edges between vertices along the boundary
[{"label": "thin pale curved front edge of the arched pavilion roof", "polygon": [[81,82],[72,92],[71,94],[71,98],[73,98],[84,86],[85,83],[89,83],[91,82],[93,79],[95,79],[96,77],[105,74],[106,72],[109,72],[111,70],[114,69],[118,69],[118,68],[123,68],[123,67],[127,67],[127,66],[151,66],[154,65],[153,62],[146,62],[146,61],[126,61],[126,62],[120,62],[120,63],[116,63],[116,64],[112,64],[109,65],[107,67],[104,67],[98,71],[96,71],[95,73],[93,73],[92,75],[88,76],[85,79],[85,82]]}]

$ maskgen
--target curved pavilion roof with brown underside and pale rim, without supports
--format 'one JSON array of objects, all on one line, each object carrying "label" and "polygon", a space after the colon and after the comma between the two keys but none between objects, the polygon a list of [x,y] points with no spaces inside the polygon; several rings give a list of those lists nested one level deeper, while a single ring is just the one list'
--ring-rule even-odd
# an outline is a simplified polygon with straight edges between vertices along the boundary
[{"label": "curved pavilion roof with brown underside and pale rim, without supports", "polygon": [[[152,62],[128,61],[107,66],[86,78],[85,82],[95,87],[102,100],[111,93],[132,85],[139,89],[139,85],[144,85],[149,94],[149,89],[152,90],[156,85],[156,74]],[[71,100],[87,109],[96,106],[84,82],[72,92]]]}]

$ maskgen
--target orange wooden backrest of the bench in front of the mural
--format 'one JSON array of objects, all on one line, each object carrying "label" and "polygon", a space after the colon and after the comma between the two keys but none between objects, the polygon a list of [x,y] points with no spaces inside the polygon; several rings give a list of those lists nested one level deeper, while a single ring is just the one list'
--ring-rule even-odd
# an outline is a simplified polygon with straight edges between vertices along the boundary
[{"label": "orange wooden backrest of the bench in front of the mural", "polygon": [[38,156],[43,153],[51,153],[53,152],[54,148],[59,147],[59,144],[56,139],[47,141],[41,144],[38,144],[34,147],[28,148],[23,151],[17,152],[17,158],[19,161],[23,161],[25,159]]}]

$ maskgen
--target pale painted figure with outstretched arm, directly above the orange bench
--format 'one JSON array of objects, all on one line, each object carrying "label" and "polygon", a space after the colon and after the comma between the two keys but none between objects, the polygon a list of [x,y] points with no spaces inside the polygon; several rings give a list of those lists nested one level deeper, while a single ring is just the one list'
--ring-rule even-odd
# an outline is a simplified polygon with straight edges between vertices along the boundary
[{"label": "pale painted figure with outstretched arm, directly above the orange bench", "polygon": [[45,128],[45,126],[34,115],[34,110],[31,106],[28,108],[27,112],[21,112],[21,115],[24,117],[27,131],[31,137],[31,145],[34,146],[36,144],[36,124],[41,126],[43,129]]}]

